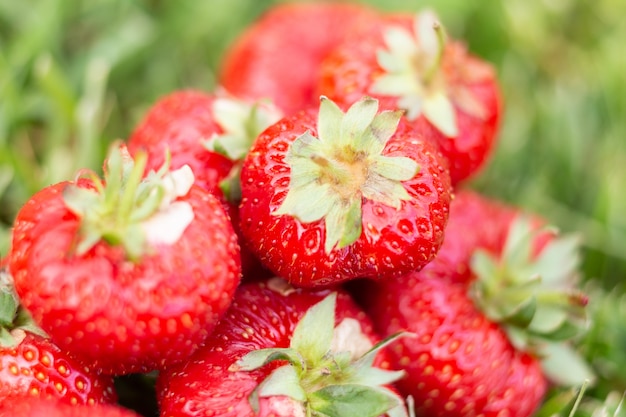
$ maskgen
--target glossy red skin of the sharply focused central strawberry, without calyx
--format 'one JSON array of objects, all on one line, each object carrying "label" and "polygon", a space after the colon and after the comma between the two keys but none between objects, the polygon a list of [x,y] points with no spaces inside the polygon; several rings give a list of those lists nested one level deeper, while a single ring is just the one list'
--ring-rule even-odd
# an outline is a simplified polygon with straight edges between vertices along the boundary
[{"label": "glossy red skin of the sharply focused central strawberry, without calyx", "polygon": [[307,130],[317,132],[314,113],[286,117],[257,138],[244,161],[241,230],[261,262],[302,287],[335,285],[360,276],[389,278],[430,262],[443,240],[451,198],[446,161],[436,146],[401,119],[383,154],[406,156],[419,164],[419,173],[403,182],[411,200],[396,210],[363,199],[361,236],[346,248],[326,253],[323,221],[305,224],[272,214],[290,182],[286,150]]}]

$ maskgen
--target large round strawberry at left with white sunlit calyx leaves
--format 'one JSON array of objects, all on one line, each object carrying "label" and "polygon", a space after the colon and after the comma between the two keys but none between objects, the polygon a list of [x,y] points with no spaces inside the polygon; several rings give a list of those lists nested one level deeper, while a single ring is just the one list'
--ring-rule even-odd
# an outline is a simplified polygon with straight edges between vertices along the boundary
[{"label": "large round strawberry at left with white sunlit calyx leaves", "polygon": [[34,320],[94,370],[185,359],[230,304],[237,238],[189,167],[144,177],[145,155],[113,147],[90,175],[36,193],[17,214],[8,267]]}]

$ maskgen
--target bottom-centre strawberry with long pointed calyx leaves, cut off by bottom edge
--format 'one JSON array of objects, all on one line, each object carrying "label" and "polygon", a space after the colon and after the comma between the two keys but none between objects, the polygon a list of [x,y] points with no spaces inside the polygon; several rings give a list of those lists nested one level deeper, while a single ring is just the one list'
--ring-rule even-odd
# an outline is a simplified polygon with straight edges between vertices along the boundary
[{"label": "bottom-centre strawberry with long pointed calyx leaves, cut off by bottom edge", "polygon": [[406,416],[385,386],[402,373],[375,367],[392,339],[375,345],[343,290],[244,283],[205,346],[159,374],[161,415]]}]

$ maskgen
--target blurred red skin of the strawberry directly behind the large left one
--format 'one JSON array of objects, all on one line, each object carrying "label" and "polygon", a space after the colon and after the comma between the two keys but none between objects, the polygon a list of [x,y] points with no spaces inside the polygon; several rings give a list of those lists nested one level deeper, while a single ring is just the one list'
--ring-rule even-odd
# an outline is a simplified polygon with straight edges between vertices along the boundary
[{"label": "blurred red skin of the strawberry directly behind the large left one", "polygon": [[147,152],[147,171],[157,171],[169,150],[171,169],[189,165],[196,184],[223,199],[219,182],[233,162],[202,144],[223,133],[213,117],[213,102],[212,95],[197,90],[175,91],[160,98],[131,132],[128,151],[132,155]]}]

